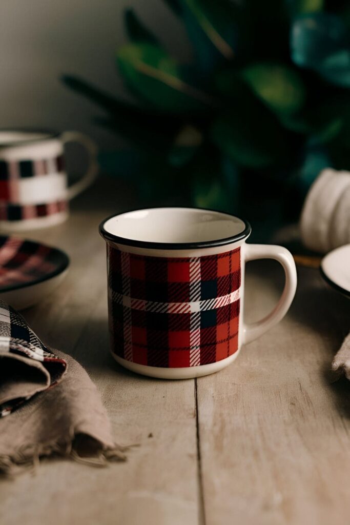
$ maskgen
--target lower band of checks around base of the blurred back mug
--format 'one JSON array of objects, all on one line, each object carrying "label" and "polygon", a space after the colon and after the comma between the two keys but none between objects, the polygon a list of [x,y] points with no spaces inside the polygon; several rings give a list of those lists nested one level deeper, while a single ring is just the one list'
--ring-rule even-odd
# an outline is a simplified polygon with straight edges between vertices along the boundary
[{"label": "lower band of checks around base of the blurred back mug", "polygon": [[55,213],[65,212],[67,201],[50,202],[48,204],[10,204],[0,201],[0,220],[25,220],[46,217]]}]

